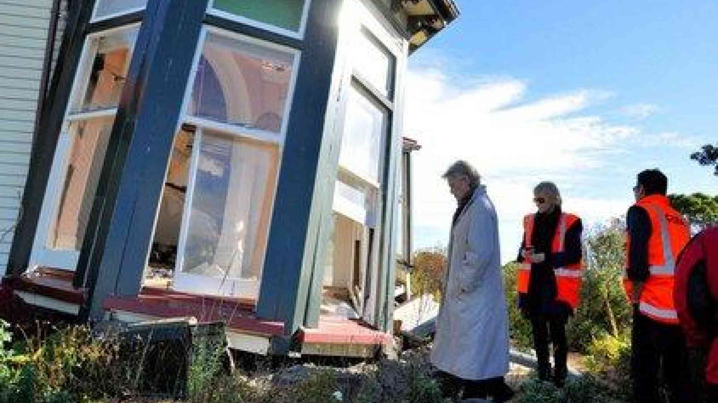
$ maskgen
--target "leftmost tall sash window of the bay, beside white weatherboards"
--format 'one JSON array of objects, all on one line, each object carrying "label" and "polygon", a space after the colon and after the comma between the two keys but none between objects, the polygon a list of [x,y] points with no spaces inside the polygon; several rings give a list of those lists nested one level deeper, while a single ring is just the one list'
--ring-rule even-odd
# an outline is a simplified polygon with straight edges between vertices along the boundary
[{"label": "leftmost tall sash window of the bay, beside white weatherboards", "polygon": [[75,270],[137,30],[113,29],[85,41],[45,191],[32,266]]}]

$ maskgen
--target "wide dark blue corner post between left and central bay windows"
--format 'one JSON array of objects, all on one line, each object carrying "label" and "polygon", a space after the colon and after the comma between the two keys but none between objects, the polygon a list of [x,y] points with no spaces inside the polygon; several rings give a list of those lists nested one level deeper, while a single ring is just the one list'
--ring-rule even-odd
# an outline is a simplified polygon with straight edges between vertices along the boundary
[{"label": "wide dark blue corner post between left and central bay windows", "polygon": [[92,237],[80,264],[90,267],[97,317],[107,295],[136,295],[151,243],[167,161],[185,97],[206,1],[150,0],[118,108],[95,197]]}]

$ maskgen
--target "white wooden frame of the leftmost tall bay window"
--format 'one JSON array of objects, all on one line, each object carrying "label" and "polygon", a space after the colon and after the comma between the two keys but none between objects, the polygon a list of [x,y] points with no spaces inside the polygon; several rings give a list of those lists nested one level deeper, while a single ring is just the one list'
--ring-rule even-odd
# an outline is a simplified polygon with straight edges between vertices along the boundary
[{"label": "white wooden frame of the leftmost tall bay window", "polygon": [[[108,117],[116,115],[117,108],[106,108],[100,110],[91,110],[88,112],[72,113],[75,104],[82,103],[81,99],[85,94],[82,91],[87,90],[87,83],[92,72],[92,64],[89,60],[90,54],[95,57],[97,49],[90,49],[90,44],[98,37],[104,37],[115,32],[130,31],[139,27],[139,23],[127,24],[122,27],[114,27],[101,32],[93,32],[85,37],[83,43],[83,51],[80,55],[80,65],[78,71],[75,72],[75,80],[73,89],[70,90],[70,97],[65,106],[65,115],[60,128],[60,136],[57,138],[57,147],[55,155],[52,159],[52,167],[50,168],[50,176],[47,179],[45,188],[45,196],[42,199],[42,209],[40,210],[39,219],[37,221],[37,230],[32,242],[32,252],[30,253],[29,270],[34,270],[39,266],[53,267],[60,270],[75,271],[80,258],[80,250],[59,250],[51,249],[47,245],[50,232],[54,228],[57,219],[57,209],[60,207],[60,197],[62,196],[62,186],[65,184],[67,176],[67,168],[70,161],[70,151],[73,149],[75,136],[70,133],[70,123],[78,120],[90,120],[93,118]],[[135,43],[130,46],[130,57],[134,54]],[[82,92],[82,95],[78,93]],[[82,105],[80,105],[81,107]]]}]

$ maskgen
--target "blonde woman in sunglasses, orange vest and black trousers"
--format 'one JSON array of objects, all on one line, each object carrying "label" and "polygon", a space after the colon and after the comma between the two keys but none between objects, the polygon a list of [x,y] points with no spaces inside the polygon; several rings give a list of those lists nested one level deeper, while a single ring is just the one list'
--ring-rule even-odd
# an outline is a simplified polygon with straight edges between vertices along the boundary
[{"label": "blonde woman in sunglasses, orange vest and black trousers", "polygon": [[[538,378],[562,387],[567,375],[566,322],[579,303],[583,275],[583,226],[579,217],[561,211],[561,194],[555,184],[541,182],[533,194],[538,212],[523,219],[518,306],[531,320]],[[553,377],[549,338],[554,344]]]}]

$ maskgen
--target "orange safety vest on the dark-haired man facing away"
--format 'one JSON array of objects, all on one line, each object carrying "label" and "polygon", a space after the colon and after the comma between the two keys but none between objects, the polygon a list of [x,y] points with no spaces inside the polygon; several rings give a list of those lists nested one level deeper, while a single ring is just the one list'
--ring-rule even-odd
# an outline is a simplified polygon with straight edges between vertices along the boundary
[{"label": "orange safety vest on the dark-haired man facing away", "polygon": [[[690,240],[689,225],[679,212],[671,207],[668,197],[652,194],[635,204],[645,209],[651,219],[651,237],[648,238],[648,266],[650,275],[643,284],[638,310],[655,321],[678,324],[676,304],[673,302],[673,272],[676,258]],[[627,236],[628,253],[623,288],[632,295],[633,282],[628,280],[630,267],[630,237]]]}]

